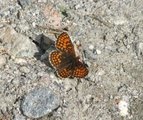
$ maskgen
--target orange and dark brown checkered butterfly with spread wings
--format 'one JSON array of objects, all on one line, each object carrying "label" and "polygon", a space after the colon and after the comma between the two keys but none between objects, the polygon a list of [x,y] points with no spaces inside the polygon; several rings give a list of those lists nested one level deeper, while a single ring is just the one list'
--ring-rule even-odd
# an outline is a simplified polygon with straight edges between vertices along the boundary
[{"label": "orange and dark brown checkered butterfly with spread wings", "polygon": [[87,65],[76,56],[74,45],[66,32],[55,42],[56,50],[49,54],[49,62],[61,78],[84,78],[88,74]]}]

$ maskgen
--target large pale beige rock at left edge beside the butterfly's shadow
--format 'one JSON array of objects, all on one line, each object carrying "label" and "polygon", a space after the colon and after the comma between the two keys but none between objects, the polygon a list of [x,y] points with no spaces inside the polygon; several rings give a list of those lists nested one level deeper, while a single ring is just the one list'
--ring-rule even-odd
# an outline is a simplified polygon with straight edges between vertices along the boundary
[{"label": "large pale beige rock at left edge beside the butterfly's shadow", "polygon": [[33,57],[37,52],[35,44],[28,37],[17,33],[12,27],[1,29],[0,39],[8,53],[14,57]]}]

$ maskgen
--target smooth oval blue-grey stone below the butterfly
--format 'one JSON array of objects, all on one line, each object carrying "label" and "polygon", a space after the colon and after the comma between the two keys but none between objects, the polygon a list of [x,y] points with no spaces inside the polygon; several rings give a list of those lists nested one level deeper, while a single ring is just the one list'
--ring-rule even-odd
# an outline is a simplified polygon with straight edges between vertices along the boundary
[{"label": "smooth oval blue-grey stone below the butterfly", "polygon": [[58,108],[59,101],[59,97],[51,89],[36,88],[25,96],[21,109],[24,115],[39,118]]}]

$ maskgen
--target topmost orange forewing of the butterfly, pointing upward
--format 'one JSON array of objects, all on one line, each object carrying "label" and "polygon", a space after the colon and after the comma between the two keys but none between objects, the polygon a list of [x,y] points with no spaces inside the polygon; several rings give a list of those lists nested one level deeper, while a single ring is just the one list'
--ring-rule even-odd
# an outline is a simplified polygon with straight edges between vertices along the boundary
[{"label": "topmost orange forewing of the butterfly, pointing upward", "polygon": [[58,39],[56,41],[56,48],[59,49],[61,52],[75,55],[74,46],[70,40],[69,35],[66,32],[63,32],[58,36]]}]

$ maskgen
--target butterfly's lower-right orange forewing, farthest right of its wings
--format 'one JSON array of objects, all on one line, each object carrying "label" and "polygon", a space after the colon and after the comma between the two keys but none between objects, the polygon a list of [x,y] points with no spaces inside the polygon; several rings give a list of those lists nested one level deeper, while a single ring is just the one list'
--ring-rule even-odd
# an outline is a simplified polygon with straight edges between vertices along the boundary
[{"label": "butterfly's lower-right orange forewing, farthest right of its wings", "polygon": [[78,61],[77,65],[75,66],[72,77],[77,77],[77,78],[84,78],[88,74],[88,69],[86,65],[80,61]]}]

